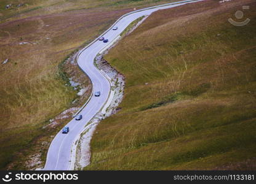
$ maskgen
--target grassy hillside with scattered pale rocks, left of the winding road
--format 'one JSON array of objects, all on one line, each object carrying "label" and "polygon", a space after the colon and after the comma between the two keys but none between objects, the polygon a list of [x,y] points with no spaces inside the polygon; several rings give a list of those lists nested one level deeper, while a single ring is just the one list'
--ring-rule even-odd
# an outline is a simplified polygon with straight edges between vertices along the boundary
[{"label": "grassy hillside with scattered pale rocks, left of the winding road", "polygon": [[[84,85],[90,85],[78,67],[59,64],[134,7],[163,2],[0,2],[0,149],[4,150],[0,153],[0,169],[26,169],[24,163],[33,151],[42,152],[45,159],[49,144],[42,143],[49,143],[50,136],[68,120],[55,129],[42,127],[49,124],[50,118],[73,107],[71,102],[78,97],[78,91],[66,85],[63,74],[76,74]],[[24,5],[17,7],[20,3]],[[5,9],[7,4],[12,4],[10,9]],[[1,64],[5,59],[9,62]]]}]

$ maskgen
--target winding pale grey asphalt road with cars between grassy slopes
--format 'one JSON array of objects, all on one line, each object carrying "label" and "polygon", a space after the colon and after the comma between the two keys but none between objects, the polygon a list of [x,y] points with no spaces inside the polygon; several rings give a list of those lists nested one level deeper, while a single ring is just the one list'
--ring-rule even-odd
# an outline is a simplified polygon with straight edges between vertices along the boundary
[{"label": "winding pale grey asphalt road with cars between grassy slopes", "polygon": [[109,40],[108,43],[103,43],[102,41],[96,39],[89,46],[84,48],[78,56],[78,64],[81,67],[82,71],[84,71],[92,81],[93,91],[100,91],[101,95],[99,97],[95,97],[94,95],[84,107],[84,109],[79,112],[82,115],[81,121],[71,120],[66,126],[69,126],[70,132],[68,134],[62,134],[62,131],[58,132],[58,134],[52,140],[48,153],[46,166],[44,170],[68,170],[70,166],[71,159],[71,147],[76,141],[76,137],[81,134],[84,126],[94,117],[94,115],[99,112],[105,102],[108,100],[108,95],[110,93],[110,83],[106,79],[105,75],[102,72],[98,71],[98,69],[94,66],[94,58],[97,56],[99,52],[101,52],[104,48],[110,46],[112,41],[118,37],[122,31],[134,20],[143,15],[150,15],[156,10],[168,9],[171,7],[181,6],[183,4],[198,2],[203,0],[195,0],[195,1],[179,1],[170,4],[164,4],[162,6],[150,7],[147,9],[136,10],[134,12],[127,13],[119,18],[113,26],[118,26],[118,30],[114,31],[111,28],[108,29],[105,33],[102,34],[106,39]]}]

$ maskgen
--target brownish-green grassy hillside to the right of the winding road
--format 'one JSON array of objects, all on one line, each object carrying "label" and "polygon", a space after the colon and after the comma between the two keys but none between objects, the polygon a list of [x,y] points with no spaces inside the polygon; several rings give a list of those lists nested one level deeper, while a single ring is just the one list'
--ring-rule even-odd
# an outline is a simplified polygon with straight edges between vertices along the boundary
[{"label": "brownish-green grassy hillside to the right of the winding road", "polygon": [[[243,5],[252,21],[228,23]],[[85,169],[255,170],[255,8],[208,0],[161,10],[111,49],[125,96],[98,125]]]}]

